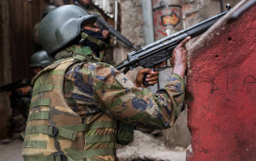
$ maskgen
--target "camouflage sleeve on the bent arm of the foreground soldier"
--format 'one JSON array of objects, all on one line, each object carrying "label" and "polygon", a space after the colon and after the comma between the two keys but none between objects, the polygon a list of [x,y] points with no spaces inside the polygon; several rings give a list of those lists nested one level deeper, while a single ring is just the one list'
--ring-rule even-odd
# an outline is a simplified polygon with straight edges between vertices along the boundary
[{"label": "camouflage sleeve on the bent arm of the foreground soldier", "polygon": [[171,127],[180,113],[185,87],[178,74],[156,93],[135,87],[124,74],[105,63],[94,68],[93,87],[100,108],[113,117],[144,128]]}]

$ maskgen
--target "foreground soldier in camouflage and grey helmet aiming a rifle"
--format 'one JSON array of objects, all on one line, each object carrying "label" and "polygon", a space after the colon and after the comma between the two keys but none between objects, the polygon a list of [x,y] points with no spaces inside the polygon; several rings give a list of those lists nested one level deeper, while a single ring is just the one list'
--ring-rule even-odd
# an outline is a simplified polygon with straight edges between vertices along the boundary
[{"label": "foreground soldier in camouflage and grey helmet aiming a rifle", "polygon": [[[142,84],[156,75],[141,70],[133,83],[95,55],[104,38],[96,17],[80,7],[58,7],[39,27],[39,39],[57,61],[34,77],[22,155],[24,160],[118,160],[117,143],[133,141],[134,127],[171,127],[185,95],[185,44],[173,52],[170,82],[155,94]],[[132,126],[131,126],[132,125]]]}]

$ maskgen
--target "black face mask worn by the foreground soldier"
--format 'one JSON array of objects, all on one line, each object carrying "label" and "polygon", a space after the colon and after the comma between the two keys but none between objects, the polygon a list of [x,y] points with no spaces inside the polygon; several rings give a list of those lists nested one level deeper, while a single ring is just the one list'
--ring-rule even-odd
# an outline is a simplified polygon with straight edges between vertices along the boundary
[{"label": "black face mask worn by the foreground soldier", "polygon": [[[96,40],[100,40],[102,42],[105,41],[102,33],[96,33],[96,32],[93,32],[92,30],[87,30],[87,29],[83,29],[83,33],[88,34],[89,36],[92,36]],[[99,57],[99,52],[105,47],[103,45],[97,45],[95,42],[90,41],[90,38],[87,38],[85,40],[85,45],[91,47],[96,57]]]}]

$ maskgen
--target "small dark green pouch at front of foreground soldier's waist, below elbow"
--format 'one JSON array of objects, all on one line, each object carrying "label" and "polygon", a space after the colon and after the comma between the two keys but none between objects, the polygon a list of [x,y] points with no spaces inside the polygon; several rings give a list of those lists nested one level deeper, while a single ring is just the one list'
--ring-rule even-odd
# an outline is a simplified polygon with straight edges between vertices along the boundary
[{"label": "small dark green pouch at front of foreground soldier's waist, below elbow", "polygon": [[135,127],[129,124],[118,122],[118,143],[127,145],[134,141]]}]

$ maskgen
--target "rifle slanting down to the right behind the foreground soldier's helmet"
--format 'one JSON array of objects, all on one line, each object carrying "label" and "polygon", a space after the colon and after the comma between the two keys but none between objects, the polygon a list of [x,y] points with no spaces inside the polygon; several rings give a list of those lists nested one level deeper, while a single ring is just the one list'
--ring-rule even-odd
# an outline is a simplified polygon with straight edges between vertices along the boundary
[{"label": "rifle slanting down to the right behind the foreground soldier's helmet", "polygon": [[[74,5],[83,8],[85,11],[86,8],[84,7],[84,5],[79,1],[79,0],[74,0]],[[130,42],[130,40],[128,40],[126,37],[124,37],[120,32],[118,32],[117,30],[115,30],[113,27],[111,27],[106,20],[103,20],[99,15],[97,16],[97,20],[96,20],[96,24],[97,27],[100,30],[107,30],[110,34],[112,34],[113,36],[117,37],[117,39],[119,39],[121,41],[121,43],[123,43],[125,46],[127,47],[134,47],[134,44]]]}]

